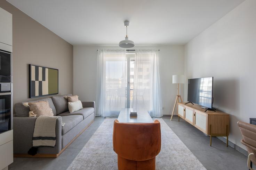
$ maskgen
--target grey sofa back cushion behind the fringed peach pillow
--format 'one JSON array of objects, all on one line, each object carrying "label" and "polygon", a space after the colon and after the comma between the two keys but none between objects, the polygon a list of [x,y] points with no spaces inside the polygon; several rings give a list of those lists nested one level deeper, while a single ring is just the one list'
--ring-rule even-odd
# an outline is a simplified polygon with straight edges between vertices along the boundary
[{"label": "grey sofa back cushion behind the fringed peach pillow", "polygon": [[[48,101],[51,110],[53,110],[53,115],[56,116],[56,109],[54,107],[53,100],[51,100],[51,98],[48,97],[48,98],[44,98],[44,99],[40,99],[40,100],[33,100],[33,101],[29,101],[29,102],[38,102],[38,101]],[[29,116],[30,108],[23,105],[23,103],[25,103],[25,102],[27,102],[27,101],[19,102],[14,105],[16,116],[23,116],[23,117]]]}]

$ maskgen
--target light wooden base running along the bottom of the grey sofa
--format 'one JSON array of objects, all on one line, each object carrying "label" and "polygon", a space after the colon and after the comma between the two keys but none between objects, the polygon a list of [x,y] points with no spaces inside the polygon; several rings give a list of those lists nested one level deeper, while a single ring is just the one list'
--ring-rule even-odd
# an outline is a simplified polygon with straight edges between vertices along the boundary
[{"label": "light wooden base running along the bottom of the grey sofa", "polygon": [[29,155],[29,154],[13,154],[13,157],[26,157],[26,158],[57,158],[78,136],[80,136],[85,129],[87,129],[92,123],[94,122],[91,121],[83,130],[75,136],[59,153],[57,154],[35,154],[34,156]]}]

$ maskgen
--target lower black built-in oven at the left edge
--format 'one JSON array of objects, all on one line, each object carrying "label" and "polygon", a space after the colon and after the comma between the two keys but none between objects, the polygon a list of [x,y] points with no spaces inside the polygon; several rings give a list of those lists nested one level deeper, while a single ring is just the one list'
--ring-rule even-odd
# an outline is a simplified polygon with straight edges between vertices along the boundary
[{"label": "lower black built-in oven at the left edge", "polygon": [[13,129],[12,94],[0,93],[0,134]]}]

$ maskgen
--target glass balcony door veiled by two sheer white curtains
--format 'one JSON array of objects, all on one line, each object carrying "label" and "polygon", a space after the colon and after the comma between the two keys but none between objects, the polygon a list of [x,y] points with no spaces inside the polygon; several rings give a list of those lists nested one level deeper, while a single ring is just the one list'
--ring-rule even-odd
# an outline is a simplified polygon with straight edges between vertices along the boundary
[{"label": "glass balcony door veiled by two sheer white curtains", "polygon": [[99,50],[96,115],[118,116],[122,108],[162,116],[157,50]]}]

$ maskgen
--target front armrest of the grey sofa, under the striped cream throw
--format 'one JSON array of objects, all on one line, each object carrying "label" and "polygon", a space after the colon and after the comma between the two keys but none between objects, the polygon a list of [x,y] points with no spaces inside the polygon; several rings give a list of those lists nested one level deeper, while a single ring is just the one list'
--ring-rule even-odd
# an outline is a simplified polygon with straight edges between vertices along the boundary
[{"label": "front armrest of the grey sofa, under the striped cream throw", "polygon": [[[32,147],[36,117],[13,117],[14,154],[27,154]],[[56,120],[56,144],[54,147],[39,147],[38,153],[57,154],[61,151],[62,118]]]}]

